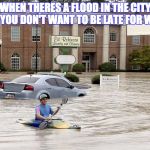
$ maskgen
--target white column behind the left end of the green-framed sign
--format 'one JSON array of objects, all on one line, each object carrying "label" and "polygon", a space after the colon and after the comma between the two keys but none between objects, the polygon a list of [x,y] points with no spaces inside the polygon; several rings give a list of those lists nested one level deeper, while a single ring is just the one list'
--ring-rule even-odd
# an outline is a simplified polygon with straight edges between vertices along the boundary
[{"label": "white column behind the left end of the green-framed sign", "polygon": [[[53,35],[59,35],[59,25],[53,25]],[[59,65],[55,63],[55,58],[59,55],[59,48],[53,48],[52,53],[53,70],[59,69]]]}]

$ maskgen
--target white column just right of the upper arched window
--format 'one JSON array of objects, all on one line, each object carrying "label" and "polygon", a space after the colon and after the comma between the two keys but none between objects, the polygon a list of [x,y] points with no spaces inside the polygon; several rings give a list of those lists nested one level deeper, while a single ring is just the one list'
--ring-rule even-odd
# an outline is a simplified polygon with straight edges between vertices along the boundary
[{"label": "white column just right of the upper arched window", "polygon": [[109,25],[103,26],[103,55],[102,63],[109,62]]}]

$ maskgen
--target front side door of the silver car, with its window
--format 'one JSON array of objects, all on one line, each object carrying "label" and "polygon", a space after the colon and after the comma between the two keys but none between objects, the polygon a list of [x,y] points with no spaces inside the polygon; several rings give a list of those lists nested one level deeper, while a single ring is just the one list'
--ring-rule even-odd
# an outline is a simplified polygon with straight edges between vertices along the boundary
[{"label": "front side door of the silver car, with its window", "polygon": [[77,96],[77,93],[74,90],[74,87],[71,86],[67,81],[56,78],[56,82],[57,82],[58,86],[61,88],[61,92],[60,92],[61,97],[63,97],[64,95],[66,95],[68,97]]}]

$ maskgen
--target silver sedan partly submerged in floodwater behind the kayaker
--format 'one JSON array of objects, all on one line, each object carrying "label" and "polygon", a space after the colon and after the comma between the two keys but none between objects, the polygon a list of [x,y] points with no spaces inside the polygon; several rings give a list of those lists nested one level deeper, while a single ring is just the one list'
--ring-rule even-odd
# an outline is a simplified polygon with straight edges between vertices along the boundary
[{"label": "silver sedan partly submerged in floodwater behind the kayaker", "polygon": [[12,81],[0,82],[1,99],[39,99],[41,94],[49,98],[84,96],[84,89],[75,87],[68,79],[59,75],[23,75]]}]

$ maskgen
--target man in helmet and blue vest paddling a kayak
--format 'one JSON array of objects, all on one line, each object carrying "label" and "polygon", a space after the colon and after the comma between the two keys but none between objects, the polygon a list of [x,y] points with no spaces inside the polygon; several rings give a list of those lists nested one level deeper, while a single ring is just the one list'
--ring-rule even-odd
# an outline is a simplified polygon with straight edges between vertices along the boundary
[{"label": "man in helmet and blue vest paddling a kayak", "polygon": [[40,105],[36,106],[35,109],[35,120],[51,120],[51,117],[56,115],[60,110],[60,107],[57,107],[57,110],[54,112],[50,105],[47,104],[48,96],[46,94],[40,95]]}]

